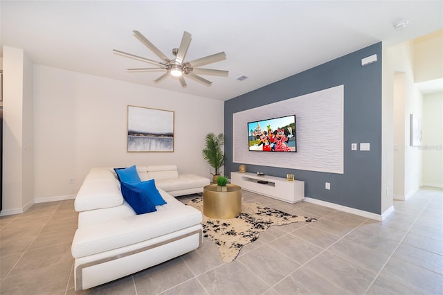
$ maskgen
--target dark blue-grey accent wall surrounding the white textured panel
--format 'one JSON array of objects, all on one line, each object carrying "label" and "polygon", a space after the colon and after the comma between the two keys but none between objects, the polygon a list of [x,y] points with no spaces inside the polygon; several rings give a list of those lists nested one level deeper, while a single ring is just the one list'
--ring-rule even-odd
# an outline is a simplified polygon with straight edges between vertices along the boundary
[{"label": "dark blue-grey accent wall surrounding the white textured panel", "polygon": [[[361,59],[373,54],[377,54],[377,62],[361,66]],[[260,163],[246,167],[248,172],[260,171],[277,177],[293,173],[296,179],[305,181],[305,197],[381,214],[381,78],[379,42],[226,100],[224,133],[227,161],[224,174],[229,176],[231,171],[238,171],[241,164],[233,163],[234,113],[343,84],[343,174],[260,166]],[[357,143],[358,150],[352,151],[351,143]],[[361,151],[360,143],[370,143],[370,150]],[[325,189],[325,182],[330,183],[330,190]]]}]

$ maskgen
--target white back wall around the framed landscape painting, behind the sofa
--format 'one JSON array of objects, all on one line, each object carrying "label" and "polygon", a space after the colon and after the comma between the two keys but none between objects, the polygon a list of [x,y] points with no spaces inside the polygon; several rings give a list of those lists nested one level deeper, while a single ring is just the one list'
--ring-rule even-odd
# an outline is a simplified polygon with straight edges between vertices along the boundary
[{"label": "white back wall around the framed landscape painting, behind the sofa", "polygon": [[[222,101],[37,64],[33,96],[35,202],[73,197],[97,166],[175,163],[211,177],[201,149],[208,132],[223,132]],[[127,105],[174,111],[174,152],[126,152]],[[3,199],[3,209],[19,206]]]}]

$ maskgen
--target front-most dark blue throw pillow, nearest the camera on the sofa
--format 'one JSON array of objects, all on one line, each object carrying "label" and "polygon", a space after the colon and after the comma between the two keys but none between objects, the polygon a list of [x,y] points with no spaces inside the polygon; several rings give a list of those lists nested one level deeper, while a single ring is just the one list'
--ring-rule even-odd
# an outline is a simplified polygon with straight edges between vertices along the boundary
[{"label": "front-most dark blue throw pillow, nearest the camera on the sofa", "polygon": [[151,198],[140,188],[136,188],[125,182],[120,183],[122,195],[125,201],[136,211],[137,214],[145,214],[157,211]]}]

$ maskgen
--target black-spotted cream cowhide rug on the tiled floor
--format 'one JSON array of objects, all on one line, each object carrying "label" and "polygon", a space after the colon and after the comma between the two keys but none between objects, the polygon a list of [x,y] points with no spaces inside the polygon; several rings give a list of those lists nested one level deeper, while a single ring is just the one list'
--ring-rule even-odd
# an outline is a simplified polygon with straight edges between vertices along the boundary
[{"label": "black-spotted cream cowhide rug on the tiled floor", "polygon": [[[192,199],[187,205],[203,213],[203,199]],[[317,221],[315,218],[291,215],[262,206],[260,203],[242,202],[242,213],[238,217],[216,220],[203,215],[201,224],[204,236],[219,247],[221,259],[224,262],[231,262],[237,258],[245,244],[257,240],[258,235],[266,231],[269,226],[315,221]]]}]

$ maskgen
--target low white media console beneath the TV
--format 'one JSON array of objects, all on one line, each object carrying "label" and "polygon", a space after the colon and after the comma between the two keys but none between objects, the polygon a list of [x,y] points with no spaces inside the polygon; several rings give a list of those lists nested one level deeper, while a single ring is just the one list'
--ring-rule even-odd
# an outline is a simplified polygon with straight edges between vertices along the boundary
[{"label": "low white media console beneath the TV", "polygon": [[[264,183],[260,184],[258,181]],[[292,204],[302,201],[305,197],[305,181],[300,180],[289,181],[282,177],[258,176],[248,172],[230,172],[230,183],[237,184],[244,190]]]}]

